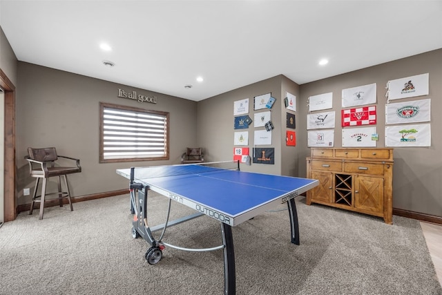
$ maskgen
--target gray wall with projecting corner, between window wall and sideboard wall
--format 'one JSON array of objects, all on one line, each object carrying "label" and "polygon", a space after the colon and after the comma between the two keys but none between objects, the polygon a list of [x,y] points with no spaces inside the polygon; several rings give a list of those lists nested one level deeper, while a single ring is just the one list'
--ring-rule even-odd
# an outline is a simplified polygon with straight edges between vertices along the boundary
[{"label": "gray wall with projecting corner, between window wall and sideboard wall", "polygon": [[[282,82],[284,82],[282,84]],[[271,121],[275,129],[272,131],[271,145],[256,147],[274,147],[275,164],[251,164],[241,165],[242,171],[253,171],[258,173],[269,173],[276,175],[294,175],[297,173],[296,148],[285,146],[285,120],[286,110],[283,103],[285,91],[296,95],[298,85],[282,75],[266,79],[261,82],[244,86],[242,88],[216,95],[209,99],[198,102],[198,143],[204,148],[206,159],[209,161],[233,160],[233,135],[235,131],[249,132],[249,149],[253,150],[253,131],[264,129],[254,127],[254,122],[249,129],[233,129],[233,102],[249,98],[249,117],[254,120],[254,113],[268,111],[261,109],[253,111],[253,97],[271,93],[276,98],[271,108]],[[247,147],[247,146],[238,146]]]}]

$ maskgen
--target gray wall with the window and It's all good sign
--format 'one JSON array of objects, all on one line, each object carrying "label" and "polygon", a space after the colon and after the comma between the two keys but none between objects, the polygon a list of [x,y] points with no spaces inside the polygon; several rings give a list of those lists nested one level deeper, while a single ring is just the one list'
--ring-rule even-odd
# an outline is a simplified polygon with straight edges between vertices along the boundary
[{"label": "gray wall with the window and It's all good sign", "polygon": [[[17,88],[18,204],[30,202],[23,188],[34,187],[23,157],[28,146],[55,146],[57,153],[81,160],[82,172],[70,175],[73,196],[115,191],[128,182],[115,169],[179,164],[186,146],[196,144],[196,102],[19,62]],[[157,104],[117,97],[118,88],[156,95]],[[170,113],[170,160],[99,163],[99,102]],[[55,183],[51,183],[52,187]]]}]

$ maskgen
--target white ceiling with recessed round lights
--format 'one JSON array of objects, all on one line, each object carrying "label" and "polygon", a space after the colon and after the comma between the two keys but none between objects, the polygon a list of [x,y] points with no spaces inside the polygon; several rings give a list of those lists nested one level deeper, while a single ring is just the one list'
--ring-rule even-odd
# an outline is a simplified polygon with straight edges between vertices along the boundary
[{"label": "white ceiling with recessed round lights", "polygon": [[19,61],[200,101],[442,48],[442,1],[0,0],[0,26]]}]

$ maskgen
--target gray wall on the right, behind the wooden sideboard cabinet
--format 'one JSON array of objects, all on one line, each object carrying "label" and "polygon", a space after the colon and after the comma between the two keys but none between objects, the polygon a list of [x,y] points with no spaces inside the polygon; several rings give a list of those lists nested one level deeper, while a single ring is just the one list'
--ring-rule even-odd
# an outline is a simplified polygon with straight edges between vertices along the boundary
[{"label": "gray wall on the right, behind the wooden sideboard cabinet", "polygon": [[299,128],[299,175],[306,175],[305,158],[309,156],[307,148],[307,99],[311,95],[333,92],[333,110],[336,111],[334,146],[342,146],[340,137],[342,128],[339,118],[341,110],[341,91],[361,85],[377,84],[377,124],[379,133],[378,147],[383,147],[385,135],[385,86],[389,80],[430,74],[430,94],[422,97],[398,99],[394,102],[431,99],[432,143],[430,147],[395,148],[393,166],[393,207],[432,216],[442,216],[442,137],[439,114],[442,113],[442,49],[429,53],[398,59],[386,64],[356,70],[302,84],[300,86]]}]

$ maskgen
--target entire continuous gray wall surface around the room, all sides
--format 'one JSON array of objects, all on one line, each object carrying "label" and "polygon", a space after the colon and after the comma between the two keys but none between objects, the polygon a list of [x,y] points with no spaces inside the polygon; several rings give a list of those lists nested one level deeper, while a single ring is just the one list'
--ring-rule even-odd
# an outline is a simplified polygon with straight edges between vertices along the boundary
[{"label": "entire continuous gray wall surface around the room, all sides", "polygon": [[[23,197],[24,187],[32,187],[28,177],[26,155],[28,146],[57,146],[59,153],[81,159],[84,172],[70,177],[74,196],[124,189],[127,182],[115,174],[115,169],[151,164],[177,164],[186,146],[202,146],[209,161],[230,160],[233,157],[233,102],[272,93],[276,104],[272,108],[275,124],[272,146],[276,149],[275,165],[242,165],[244,171],[294,175],[306,174],[307,98],[320,93],[334,93],[334,111],[340,112],[340,93],[343,88],[377,83],[378,147],[384,146],[385,84],[398,79],[430,73],[432,99],[432,146],[427,148],[394,149],[393,205],[404,209],[442,217],[442,139],[437,122],[442,111],[442,49],[407,57],[387,64],[372,66],[352,73],[330,77],[298,86],[280,75],[244,86],[202,102],[155,93],[158,104],[145,108],[171,113],[171,159],[169,161],[99,164],[98,126],[99,102],[140,106],[137,102],[116,97],[117,88],[152,93],[137,88],[92,79],[59,70],[19,62],[0,31],[0,68],[17,86],[17,190],[18,204],[30,202]],[[298,98],[296,114],[296,147],[285,146],[285,113],[282,99],[288,91]],[[422,97],[419,97],[422,98]],[[405,100],[414,100],[411,97]],[[253,147],[253,125],[249,129],[249,147]],[[341,132],[336,125],[335,146],[341,146]]]}]

